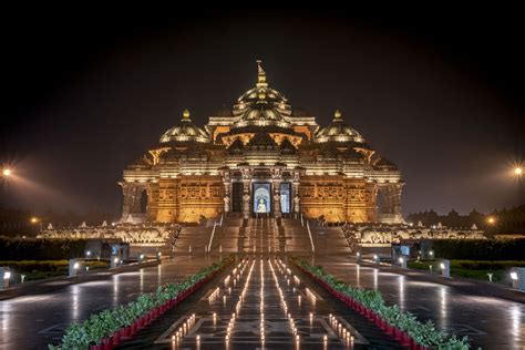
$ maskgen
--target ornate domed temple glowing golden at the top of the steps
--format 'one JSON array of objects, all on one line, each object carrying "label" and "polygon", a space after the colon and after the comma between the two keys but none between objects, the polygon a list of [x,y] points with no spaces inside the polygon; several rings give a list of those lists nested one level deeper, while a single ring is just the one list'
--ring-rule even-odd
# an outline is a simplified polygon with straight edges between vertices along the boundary
[{"label": "ornate domed temple glowing golden at the top of the steps", "polygon": [[327,126],[257,82],[199,127],[186,110],[124,169],[123,222],[193,223],[223,214],[401,223],[398,167],[336,111]]}]

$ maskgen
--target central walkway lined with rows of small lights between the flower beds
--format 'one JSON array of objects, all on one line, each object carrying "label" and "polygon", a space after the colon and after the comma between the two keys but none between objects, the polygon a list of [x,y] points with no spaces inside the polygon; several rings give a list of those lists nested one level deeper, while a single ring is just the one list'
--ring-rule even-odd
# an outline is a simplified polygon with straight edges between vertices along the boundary
[{"label": "central walkway lined with rows of small lights between the flower beds", "polygon": [[187,312],[166,316],[121,348],[400,349],[348,311],[325,302],[279,258],[257,256],[239,261]]}]

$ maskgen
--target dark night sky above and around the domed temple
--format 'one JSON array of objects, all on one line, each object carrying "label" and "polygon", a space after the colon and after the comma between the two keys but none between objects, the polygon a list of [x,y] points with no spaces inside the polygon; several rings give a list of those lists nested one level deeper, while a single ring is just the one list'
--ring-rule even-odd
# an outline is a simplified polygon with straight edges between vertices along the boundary
[{"label": "dark night sky above and around the domed temple", "polygon": [[231,105],[254,85],[257,58],[292,106],[323,125],[342,110],[398,164],[405,214],[516,205],[519,11],[390,10],[4,13],[0,162],[18,176],[0,206],[119,215],[122,168],[184,109],[202,125]]}]

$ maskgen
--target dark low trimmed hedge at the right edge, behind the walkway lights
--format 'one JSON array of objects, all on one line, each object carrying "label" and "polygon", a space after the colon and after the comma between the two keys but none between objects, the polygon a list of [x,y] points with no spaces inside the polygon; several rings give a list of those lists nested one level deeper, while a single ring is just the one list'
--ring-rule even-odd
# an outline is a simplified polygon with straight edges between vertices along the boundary
[{"label": "dark low trimmed hedge at the right edge, behind the walkway lights", "polygon": [[525,239],[432,240],[435,256],[464,260],[523,260]]}]

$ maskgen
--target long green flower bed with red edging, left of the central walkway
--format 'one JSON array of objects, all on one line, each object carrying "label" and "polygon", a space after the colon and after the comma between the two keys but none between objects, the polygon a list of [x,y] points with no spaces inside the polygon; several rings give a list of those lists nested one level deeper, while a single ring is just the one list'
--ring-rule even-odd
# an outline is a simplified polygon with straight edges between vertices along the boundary
[{"label": "long green flower bed with red edging, left of the central walkway", "polygon": [[186,299],[233,261],[234,257],[229,256],[219,264],[200,269],[179,284],[158,286],[155,292],[144,294],[135,301],[93,313],[83,323],[72,323],[65,331],[62,343],[58,347],[50,344],[49,349],[112,349]]}]

